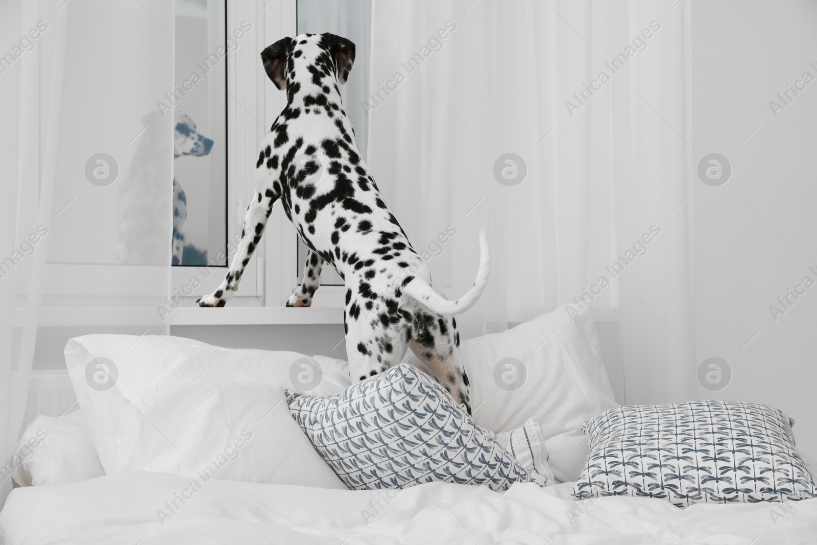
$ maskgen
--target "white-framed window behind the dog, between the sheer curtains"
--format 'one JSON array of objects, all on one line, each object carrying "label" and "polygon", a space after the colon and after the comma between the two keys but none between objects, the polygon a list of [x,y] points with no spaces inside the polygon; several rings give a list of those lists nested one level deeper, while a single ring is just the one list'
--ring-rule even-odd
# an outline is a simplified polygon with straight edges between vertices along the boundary
[{"label": "white-framed window behind the dog, between the sheer curtains", "polygon": [[[286,104],[283,92],[270,83],[259,53],[284,36],[331,32],[355,42],[355,67],[341,87],[346,114],[364,159],[368,119],[360,106],[368,90],[370,0],[278,0],[262,8],[233,0],[176,0],[176,80],[191,72],[207,74],[178,102],[177,109],[196,125],[196,132],[212,140],[208,153],[174,159],[176,184],[185,192],[187,217],[183,223],[181,266],[173,269],[173,288],[199,287],[190,299],[212,293],[223,279],[225,248],[233,249],[242,229],[249,199],[254,197],[255,163],[261,141]],[[236,38],[235,31],[243,29]],[[204,65],[217,47],[229,44],[220,62]],[[187,87],[191,87],[187,84]],[[183,127],[182,127],[183,130]],[[178,135],[176,135],[178,136]],[[198,136],[197,136],[198,138]],[[190,190],[188,190],[190,186]],[[277,203],[264,239],[245,270],[238,306],[283,305],[297,286],[306,262],[306,245]],[[208,270],[203,269],[208,265]],[[216,266],[222,268],[213,270]],[[209,274],[203,274],[203,271]],[[313,306],[343,306],[342,279],[324,267]],[[189,292],[185,292],[189,293]],[[303,315],[304,313],[301,313]],[[338,313],[342,316],[342,313]],[[339,318],[338,318],[339,319]]]}]

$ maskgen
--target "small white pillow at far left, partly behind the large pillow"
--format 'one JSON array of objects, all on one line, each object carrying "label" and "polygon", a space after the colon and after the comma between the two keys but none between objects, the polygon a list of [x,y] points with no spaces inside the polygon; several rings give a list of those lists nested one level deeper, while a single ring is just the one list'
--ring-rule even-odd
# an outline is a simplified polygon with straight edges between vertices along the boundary
[{"label": "small white pillow at far left, partly behind the large pillow", "polygon": [[34,418],[17,443],[12,462],[13,478],[20,486],[60,485],[105,475],[81,411]]}]

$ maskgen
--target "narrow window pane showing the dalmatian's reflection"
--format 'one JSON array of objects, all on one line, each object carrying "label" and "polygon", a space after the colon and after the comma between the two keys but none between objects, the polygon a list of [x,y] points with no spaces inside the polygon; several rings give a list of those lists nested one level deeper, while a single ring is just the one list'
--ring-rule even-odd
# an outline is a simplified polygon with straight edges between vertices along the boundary
[{"label": "narrow window pane showing the dalmatian's reflection", "polygon": [[225,0],[176,0],[174,266],[206,266],[227,247]]}]

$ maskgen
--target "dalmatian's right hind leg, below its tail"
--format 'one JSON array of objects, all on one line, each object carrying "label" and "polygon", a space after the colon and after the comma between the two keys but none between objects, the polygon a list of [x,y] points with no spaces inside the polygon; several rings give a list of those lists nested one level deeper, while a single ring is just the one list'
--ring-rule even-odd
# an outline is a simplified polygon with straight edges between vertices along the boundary
[{"label": "dalmatian's right hind leg, below its tail", "polygon": [[414,337],[409,346],[431,374],[449,391],[458,404],[465,404],[471,414],[468,375],[459,354],[457,320],[453,316],[416,310]]}]

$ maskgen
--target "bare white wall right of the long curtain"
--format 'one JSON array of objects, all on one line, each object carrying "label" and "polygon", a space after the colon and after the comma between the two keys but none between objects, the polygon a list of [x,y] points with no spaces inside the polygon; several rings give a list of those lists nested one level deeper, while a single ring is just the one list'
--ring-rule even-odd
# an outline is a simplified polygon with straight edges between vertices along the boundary
[{"label": "bare white wall right of the long curtain", "polygon": [[817,282],[817,81],[777,117],[769,102],[804,72],[817,78],[817,3],[699,1],[692,15],[694,160],[717,152],[733,169],[690,199],[697,353],[733,373],[723,391],[700,391],[783,410],[815,457],[817,287],[777,321],[769,307],[804,276]]}]

